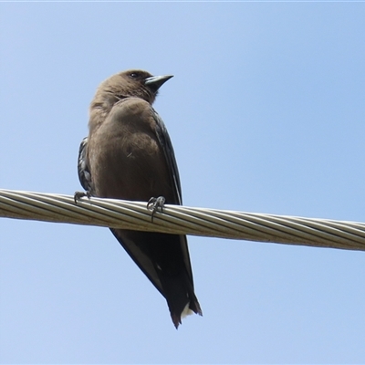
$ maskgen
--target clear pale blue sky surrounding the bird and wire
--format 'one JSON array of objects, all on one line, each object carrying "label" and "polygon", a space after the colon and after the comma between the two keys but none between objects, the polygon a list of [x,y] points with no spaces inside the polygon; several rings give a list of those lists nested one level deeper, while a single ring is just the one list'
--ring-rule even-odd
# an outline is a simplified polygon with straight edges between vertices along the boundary
[{"label": "clear pale blue sky surrounding the bird and wire", "polygon": [[[79,190],[104,78],[155,103],[186,205],[365,221],[364,3],[0,4],[0,188]],[[176,331],[108,229],[0,220],[2,363],[365,362],[365,253],[188,237]]]}]

